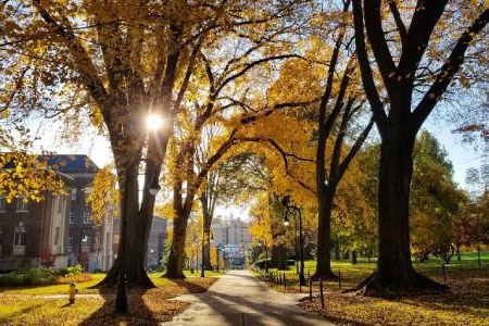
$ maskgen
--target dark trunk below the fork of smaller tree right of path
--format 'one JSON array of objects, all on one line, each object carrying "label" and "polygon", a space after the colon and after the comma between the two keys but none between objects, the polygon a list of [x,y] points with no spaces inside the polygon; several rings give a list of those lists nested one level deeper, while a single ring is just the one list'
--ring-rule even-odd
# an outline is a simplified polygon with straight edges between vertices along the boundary
[{"label": "dark trunk below the fork of smaller tree right of path", "polygon": [[[323,188],[323,187],[321,187]],[[334,186],[324,187],[323,191],[317,191],[318,205],[318,234],[317,234],[317,264],[314,279],[335,279],[337,276],[331,269],[331,211]]]}]

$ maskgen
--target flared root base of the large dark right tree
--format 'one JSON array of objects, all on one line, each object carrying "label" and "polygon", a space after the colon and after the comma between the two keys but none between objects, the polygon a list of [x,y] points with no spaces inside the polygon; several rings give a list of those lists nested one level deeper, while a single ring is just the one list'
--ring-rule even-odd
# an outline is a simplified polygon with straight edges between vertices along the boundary
[{"label": "flared root base of the large dark right tree", "polygon": [[365,297],[396,298],[416,294],[441,293],[449,291],[449,287],[439,284],[417,272],[411,280],[379,279],[377,271],[365,278],[355,288],[344,292],[356,292]]}]

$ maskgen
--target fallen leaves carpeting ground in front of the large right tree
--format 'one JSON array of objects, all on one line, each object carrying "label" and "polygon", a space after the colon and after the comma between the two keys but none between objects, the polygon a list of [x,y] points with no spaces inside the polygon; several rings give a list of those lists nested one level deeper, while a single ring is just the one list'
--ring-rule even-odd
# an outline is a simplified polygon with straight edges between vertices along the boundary
[{"label": "fallen leaves carpeting ground in front of the large right tree", "polygon": [[338,325],[489,325],[489,269],[457,273],[448,285],[447,293],[390,300],[328,289],[325,310],[318,298],[300,305]]}]

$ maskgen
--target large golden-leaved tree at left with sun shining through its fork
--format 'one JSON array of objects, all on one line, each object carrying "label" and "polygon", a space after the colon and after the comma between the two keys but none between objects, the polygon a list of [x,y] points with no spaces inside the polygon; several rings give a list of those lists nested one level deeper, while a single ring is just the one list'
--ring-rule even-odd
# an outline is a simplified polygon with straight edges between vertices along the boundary
[{"label": "large golden-leaved tree at left with sun shining through its fork", "polygon": [[[149,189],[159,179],[181,104],[191,101],[188,88],[197,61],[205,61],[202,48],[230,33],[243,43],[253,43],[250,53],[254,54],[268,38],[256,36],[253,28],[281,22],[294,1],[275,4],[227,0],[213,4],[180,0],[1,3],[5,28],[1,28],[0,47],[7,53],[2,54],[5,78],[1,83],[7,86],[1,88],[2,111],[4,106],[28,113],[35,108],[51,117],[90,121],[110,139],[122,221],[128,224],[123,230],[128,235],[121,235],[121,243],[127,246],[120,246],[117,261],[102,285],[113,285],[124,267],[129,283],[152,286],[143,261],[154,196],[143,191],[138,204],[139,167],[145,168],[142,188]],[[240,76],[234,73],[253,67],[248,64],[229,62],[221,75],[224,80],[217,82],[224,87]],[[149,113],[164,116],[166,128],[147,135],[143,121]],[[176,226],[185,225],[177,222]],[[130,255],[122,266],[125,248]],[[172,256],[175,253],[170,265]]]}]

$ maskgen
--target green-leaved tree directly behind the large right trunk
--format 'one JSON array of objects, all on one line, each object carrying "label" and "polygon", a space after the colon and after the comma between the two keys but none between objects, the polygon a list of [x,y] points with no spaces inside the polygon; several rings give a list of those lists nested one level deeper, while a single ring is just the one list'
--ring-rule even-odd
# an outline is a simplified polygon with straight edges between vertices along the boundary
[{"label": "green-leaved tree directly behind the large right trunk", "polygon": [[454,226],[467,203],[453,181],[453,167],[438,140],[424,130],[414,146],[411,189],[412,248],[419,261],[429,254],[449,263],[456,250]]}]

